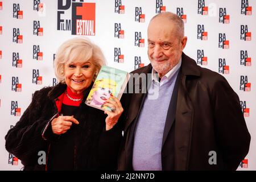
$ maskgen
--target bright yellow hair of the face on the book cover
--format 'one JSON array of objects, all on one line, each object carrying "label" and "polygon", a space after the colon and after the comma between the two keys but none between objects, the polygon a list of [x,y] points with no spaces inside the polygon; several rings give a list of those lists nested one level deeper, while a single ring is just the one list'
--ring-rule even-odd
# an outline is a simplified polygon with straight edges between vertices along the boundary
[{"label": "bright yellow hair of the face on the book cover", "polygon": [[115,88],[117,86],[117,82],[110,80],[109,78],[102,78],[94,82],[90,93],[88,94],[88,98],[86,99],[86,103],[90,104],[92,102],[93,93],[99,88],[109,88],[112,89],[112,94],[115,94]]}]

